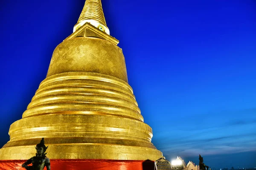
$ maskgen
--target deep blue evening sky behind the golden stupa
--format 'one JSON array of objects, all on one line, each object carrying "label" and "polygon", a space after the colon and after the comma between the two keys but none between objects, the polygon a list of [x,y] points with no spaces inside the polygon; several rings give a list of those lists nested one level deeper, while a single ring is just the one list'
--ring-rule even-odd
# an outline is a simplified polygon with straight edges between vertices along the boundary
[{"label": "deep blue evening sky behind the golden stupa", "polygon": [[[256,167],[256,1],[102,0],[166,159]],[[0,147],[84,0],[0,1]]]}]

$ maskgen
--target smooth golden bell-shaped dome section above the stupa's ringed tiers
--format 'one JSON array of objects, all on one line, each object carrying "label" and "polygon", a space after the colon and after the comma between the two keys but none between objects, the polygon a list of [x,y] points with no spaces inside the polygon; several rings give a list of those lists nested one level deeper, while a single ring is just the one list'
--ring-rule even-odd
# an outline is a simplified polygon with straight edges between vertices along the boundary
[{"label": "smooth golden bell-shaped dome section above the stupa's ringed tiers", "polygon": [[71,38],[55,48],[47,77],[71,71],[107,74],[128,82],[122,49],[99,38]]}]

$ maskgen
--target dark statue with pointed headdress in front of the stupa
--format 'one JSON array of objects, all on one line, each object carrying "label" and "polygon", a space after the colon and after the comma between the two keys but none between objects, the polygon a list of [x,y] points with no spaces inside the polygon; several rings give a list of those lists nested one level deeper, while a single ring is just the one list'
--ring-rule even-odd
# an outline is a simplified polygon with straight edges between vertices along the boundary
[{"label": "dark statue with pointed headdress in front of the stupa", "polygon": [[[44,170],[44,167],[47,167],[47,170],[50,170],[50,159],[45,156],[47,154],[45,153],[47,147],[44,145],[44,138],[42,138],[41,142],[35,147],[35,156],[22,164],[22,167],[26,168],[26,170]],[[28,166],[31,163],[32,166]]]}]

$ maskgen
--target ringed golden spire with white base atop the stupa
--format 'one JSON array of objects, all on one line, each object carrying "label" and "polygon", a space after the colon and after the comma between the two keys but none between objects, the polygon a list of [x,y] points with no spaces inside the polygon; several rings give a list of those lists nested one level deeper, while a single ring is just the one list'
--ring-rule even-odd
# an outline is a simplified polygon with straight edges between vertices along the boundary
[{"label": "ringed golden spire with white base atop the stupa", "polygon": [[85,1],[84,8],[77,24],[74,26],[73,32],[78,30],[85,23],[90,23],[91,25],[105,32],[106,34],[110,34],[105,21],[101,0]]}]

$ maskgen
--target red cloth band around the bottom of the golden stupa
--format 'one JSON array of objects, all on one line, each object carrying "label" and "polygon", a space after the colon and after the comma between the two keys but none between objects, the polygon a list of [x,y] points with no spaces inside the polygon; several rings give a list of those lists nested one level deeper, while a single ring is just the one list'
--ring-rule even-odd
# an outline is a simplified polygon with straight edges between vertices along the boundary
[{"label": "red cloth band around the bottom of the golden stupa", "polygon": [[[0,160],[0,170],[26,170],[26,160]],[[154,170],[154,161],[108,159],[50,159],[51,170]],[[44,168],[46,170],[46,167]]]}]

